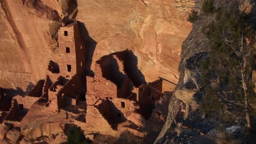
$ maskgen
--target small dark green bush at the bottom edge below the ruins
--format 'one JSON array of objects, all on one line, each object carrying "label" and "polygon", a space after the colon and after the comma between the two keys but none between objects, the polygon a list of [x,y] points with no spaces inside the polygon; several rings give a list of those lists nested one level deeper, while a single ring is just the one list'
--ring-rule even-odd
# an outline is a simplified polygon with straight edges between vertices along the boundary
[{"label": "small dark green bush at the bottom edge below the ruins", "polygon": [[71,127],[67,132],[67,142],[62,144],[91,144],[92,141],[86,139],[83,132],[76,126]]}]

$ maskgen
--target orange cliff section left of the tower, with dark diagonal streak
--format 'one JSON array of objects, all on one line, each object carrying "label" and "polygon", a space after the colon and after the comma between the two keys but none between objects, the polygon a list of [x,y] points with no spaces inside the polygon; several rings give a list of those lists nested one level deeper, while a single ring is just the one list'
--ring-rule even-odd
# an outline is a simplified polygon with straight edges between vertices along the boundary
[{"label": "orange cliff section left of the tower, with dark diagonal streak", "polygon": [[0,87],[26,89],[45,76],[53,43],[50,19],[22,1],[1,1]]}]

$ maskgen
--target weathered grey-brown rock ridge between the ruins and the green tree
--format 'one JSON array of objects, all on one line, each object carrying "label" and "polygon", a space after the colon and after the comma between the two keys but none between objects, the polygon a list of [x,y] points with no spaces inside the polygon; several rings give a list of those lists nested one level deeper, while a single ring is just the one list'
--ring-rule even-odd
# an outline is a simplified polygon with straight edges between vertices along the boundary
[{"label": "weathered grey-brown rock ridge between the ruins and the green tree", "polygon": [[[200,79],[196,69],[200,70],[201,61],[207,58],[207,52],[210,51],[208,40],[203,37],[201,31],[202,23],[202,21],[194,23],[193,29],[182,45],[179,82],[170,99],[168,117],[156,143],[171,142],[173,133],[177,132],[179,135],[182,131],[182,127],[179,128],[182,126],[180,122],[199,106],[195,100],[195,94],[199,92],[196,85]],[[177,125],[173,126],[173,124]]]}]

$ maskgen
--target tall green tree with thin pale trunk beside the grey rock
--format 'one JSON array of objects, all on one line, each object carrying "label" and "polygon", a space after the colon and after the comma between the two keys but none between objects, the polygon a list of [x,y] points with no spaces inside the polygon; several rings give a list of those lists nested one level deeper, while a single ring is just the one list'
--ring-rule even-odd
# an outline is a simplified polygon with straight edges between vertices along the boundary
[{"label": "tall green tree with thin pale trunk beside the grey rock", "polygon": [[203,28],[211,52],[210,59],[202,63],[201,87],[206,91],[202,109],[232,118],[245,114],[251,129],[249,99],[255,98],[255,92],[250,81],[253,47],[248,42],[254,42],[255,29],[239,1],[224,3],[205,0],[202,4],[201,15],[212,19]]}]

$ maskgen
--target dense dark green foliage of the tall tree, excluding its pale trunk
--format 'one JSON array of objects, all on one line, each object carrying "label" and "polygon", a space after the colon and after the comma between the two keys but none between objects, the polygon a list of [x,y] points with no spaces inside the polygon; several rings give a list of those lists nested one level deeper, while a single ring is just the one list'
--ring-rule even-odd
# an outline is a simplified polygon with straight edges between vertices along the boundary
[{"label": "dense dark green foliage of the tall tree, excluding its pale trunk", "polygon": [[[212,111],[224,113],[223,106],[228,101],[238,101],[244,104],[241,83],[243,57],[237,53],[243,53],[240,48],[247,46],[245,36],[254,37],[255,31],[250,29],[248,17],[240,11],[238,5],[230,5],[216,11],[213,4],[214,1],[206,0],[202,5],[202,12],[212,14],[215,18],[202,29],[210,40],[211,46],[210,60],[202,62],[201,65],[201,87],[204,87],[206,91],[202,110],[206,113]],[[246,49],[248,50],[249,47]],[[247,71],[252,65],[251,62]],[[249,82],[247,85],[249,86]],[[249,93],[253,93],[251,86],[249,89]],[[255,96],[255,93],[252,95]],[[240,107],[236,107],[234,113],[239,115],[239,111],[243,112]]]}]

